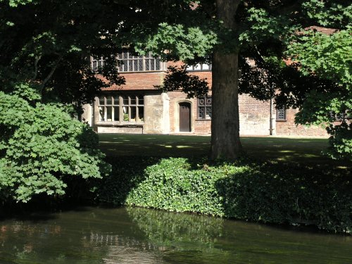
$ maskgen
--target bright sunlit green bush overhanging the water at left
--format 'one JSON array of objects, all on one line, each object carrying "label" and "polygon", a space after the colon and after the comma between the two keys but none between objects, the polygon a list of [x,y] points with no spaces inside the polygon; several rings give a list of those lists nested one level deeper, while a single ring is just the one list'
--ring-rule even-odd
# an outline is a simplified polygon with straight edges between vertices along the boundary
[{"label": "bright sunlit green bush overhanging the water at left", "polygon": [[[0,92],[0,194],[28,201],[34,194],[64,194],[67,175],[102,177],[110,167],[102,161],[96,134],[65,113],[63,106],[38,101],[26,84],[12,94]],[[25,96],[27,98],[21,98]]]}]

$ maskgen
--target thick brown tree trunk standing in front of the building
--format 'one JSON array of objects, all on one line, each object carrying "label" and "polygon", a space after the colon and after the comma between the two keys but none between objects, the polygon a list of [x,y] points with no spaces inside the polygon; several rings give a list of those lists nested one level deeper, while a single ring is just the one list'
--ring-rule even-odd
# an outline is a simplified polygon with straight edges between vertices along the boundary
[{"label": "thick brown tree trunk standing in front of the building", "polygon": [[[217,0],[218,19],[224,27],[237,30],[234,15],[239,0]],[[236,42],[236,39],[233,40]],[[211,158],[234,160],[241,156],[239,141],[238,49],[225,53],[226,44],[213,53],[213,113],[211,119]]]}]

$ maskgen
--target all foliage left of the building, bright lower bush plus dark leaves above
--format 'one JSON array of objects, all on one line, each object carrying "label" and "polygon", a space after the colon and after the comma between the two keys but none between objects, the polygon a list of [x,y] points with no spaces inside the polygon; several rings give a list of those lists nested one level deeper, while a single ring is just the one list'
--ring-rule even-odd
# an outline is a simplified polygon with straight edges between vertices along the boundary
[{"label": "all foliage left of the building, bright lower bush plus dark leaves above", "polygon": [[[87,23],[92,17],[94,23]],[[124,82],[111,58],[120,46],[103,37],[121,22],[115,18],[103,1],[0,1],[3,201],[61,195],[70,177],[109,172],[96,134],[73,117],[102,87]],[[106,63],[93,71],[90,55],[106,57]]]}]

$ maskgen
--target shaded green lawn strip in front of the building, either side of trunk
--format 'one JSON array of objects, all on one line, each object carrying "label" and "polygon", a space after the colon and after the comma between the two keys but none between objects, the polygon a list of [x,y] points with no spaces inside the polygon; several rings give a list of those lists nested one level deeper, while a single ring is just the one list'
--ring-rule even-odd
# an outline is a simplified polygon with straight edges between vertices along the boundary
[{"label": "shaded green lawn strip in front of the building, either side of trunk", "polygon": [[[99,140],[107,156],[206,156],[210,149],[210,136],[99,134]],[[322,155],[327,139],[241,137],[241,143],[246,153],[257,160],[351,167],[351,163],[332,161]]]}]

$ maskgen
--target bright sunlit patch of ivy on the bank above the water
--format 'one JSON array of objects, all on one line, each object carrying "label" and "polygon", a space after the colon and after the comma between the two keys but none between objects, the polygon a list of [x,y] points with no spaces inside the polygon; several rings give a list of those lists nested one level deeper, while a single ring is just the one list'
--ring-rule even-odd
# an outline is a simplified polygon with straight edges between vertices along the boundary
[{"label": "bright sunlit patch of ivy on the bank above the water", "polygon": [[189,170],[190,165],[185,161],[184,158],[162,160],[146,168],[146,180],[130,192],[126,203],[223,216],[222,203],[215,189],[219,178],[213,175],[223,177],[228,168],[211,168],[210,172]]}]

